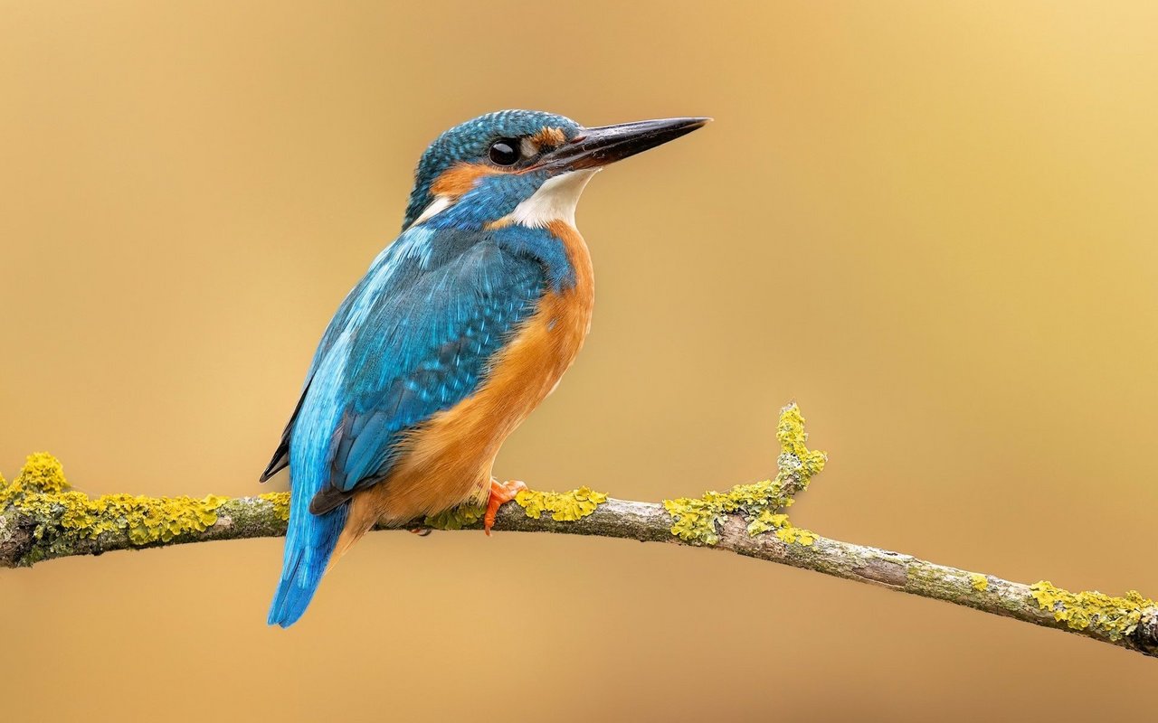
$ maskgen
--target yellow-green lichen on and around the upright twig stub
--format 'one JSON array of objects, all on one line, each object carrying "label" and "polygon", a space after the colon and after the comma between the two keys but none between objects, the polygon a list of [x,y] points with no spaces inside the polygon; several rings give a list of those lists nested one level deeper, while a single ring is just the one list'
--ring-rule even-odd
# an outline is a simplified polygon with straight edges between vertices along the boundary
[{"label": "yellow-green lichen on and around the upright twig stub", "polygon": [[775,479],[736,485],[728,492],[710,490],[702,497],[664,500],[664,508],[674,521],[672,534],[686,543],[716,545],[727,516],[740,515],[753,537],[774,532],[785,543],[812,545],[816,534],[793,526],[782,510],[792,504],[793,495],[808,488],[812,477],[824,469],[828,456],[808,449],[808,434],[796,404],[780,410],[776,438],[780,455]]}]

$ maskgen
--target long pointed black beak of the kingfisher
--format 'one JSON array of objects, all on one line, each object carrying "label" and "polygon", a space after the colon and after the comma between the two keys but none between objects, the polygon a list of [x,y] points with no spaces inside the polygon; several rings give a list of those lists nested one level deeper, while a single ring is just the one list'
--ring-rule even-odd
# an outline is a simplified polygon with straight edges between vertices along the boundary
[{"label": "long pointed black beak of the kingfisher", "polygon": [[664,118],[582,128],[579,135],[547,153],[535,168],[562,171],[599,168],[674,141],[709,120],[711,118]]}]

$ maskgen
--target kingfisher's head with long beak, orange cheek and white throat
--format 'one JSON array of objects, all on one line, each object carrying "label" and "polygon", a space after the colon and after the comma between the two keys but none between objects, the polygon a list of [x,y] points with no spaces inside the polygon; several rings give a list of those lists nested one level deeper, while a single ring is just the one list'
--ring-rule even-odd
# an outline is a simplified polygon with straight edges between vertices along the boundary
[{"label": "kingfisher's head with long beak, orange cheek and white throat", "polygon": [[423,154],[403,229],[416,223],[573,223],[579,194],[595,171],[708,120],[667,118],[586,128],[540,111],[479,116],[439,135]]}]

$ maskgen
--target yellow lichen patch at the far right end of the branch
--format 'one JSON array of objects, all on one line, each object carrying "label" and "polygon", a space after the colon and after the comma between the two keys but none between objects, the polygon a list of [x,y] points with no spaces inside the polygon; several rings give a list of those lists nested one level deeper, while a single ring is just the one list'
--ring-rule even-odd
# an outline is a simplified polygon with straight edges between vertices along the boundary
[{"label": "yellow lichen patch at the far right end of the branch", "polygon": [[1158,614],[1155,602],[1142,597],[1137,590],[1123,597],[1111,597],[1097,590],[1070,592],[1048,581],[1035,582],[1029,590],[1041,610],[1054,613],[1054,620],[1075,630],[1099,630],[1109,640],[1121,640],[1134,633],[1139,622],[1150,621]]}]

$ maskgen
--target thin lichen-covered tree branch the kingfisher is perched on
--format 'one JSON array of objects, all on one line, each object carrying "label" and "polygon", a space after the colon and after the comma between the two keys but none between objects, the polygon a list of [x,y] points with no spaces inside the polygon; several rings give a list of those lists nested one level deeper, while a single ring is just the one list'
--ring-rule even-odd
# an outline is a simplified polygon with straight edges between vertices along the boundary
[{"label": "thin lichen-covered tree branch the kingfisher is perched on", "polygon": [[[520,493],[498,514],[494,530],[552,532],[711,547],[748,558],[853,580],[1083,635],[1158,657],[1158,607],[1137,592],[1111,597],[1069,592],[937,565],[911,555],[821,537],[793,526],[783,509],[823,466],[804,445],[796,406],[782,411],[775,480],[739,485],[699,499],[633,502],[587,488]],[[477,508],[380,529],[482,529]],[[210,540],[285,534],[288,493],[225,499],[89,499],[68,488],[59,463],[29,457],[21,475],[0,478],[0,567],[27,567],[69,555],[100,555]]]}]

